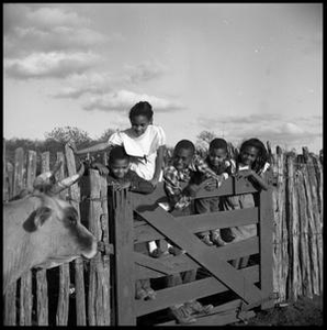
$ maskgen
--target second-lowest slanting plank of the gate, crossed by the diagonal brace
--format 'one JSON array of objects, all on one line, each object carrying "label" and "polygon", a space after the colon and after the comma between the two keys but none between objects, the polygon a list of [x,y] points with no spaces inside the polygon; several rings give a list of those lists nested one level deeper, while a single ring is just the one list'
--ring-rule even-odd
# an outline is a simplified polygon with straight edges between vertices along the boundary
[{"label": "second-lowest slanting plank of the gate, crossed by the diagonal brace", "polygon": [[[237,272],[252,284],[259,280],[258,265],[238,270]],[[228,288],[224,284],[217,282],[214,277],[198,279],[191,283],[157,290],[155,300],[135,300],[135,314],[139,317],[168,308],[176,304],[183,304],[192,299],[200,299],[226,290],[228,290]]]}]

